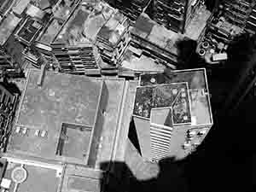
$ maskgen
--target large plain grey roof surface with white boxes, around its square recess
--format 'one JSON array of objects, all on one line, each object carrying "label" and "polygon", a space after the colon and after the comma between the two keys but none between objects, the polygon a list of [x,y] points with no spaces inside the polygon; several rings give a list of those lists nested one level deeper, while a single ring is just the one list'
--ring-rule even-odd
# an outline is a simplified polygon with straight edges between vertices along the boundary
[{"label": "large plain grey roof surface with white boxes, around its square recess", "polygon": [[[43,86],[40,87],[37,84],[39,73],[33,69],[28,73],[9,151],[56,160],[55,153],[64,123],[93,129],[103,82],[101,79],[46,72]],[[22,135],[15,132],[17,127],[28,130]],[[37,130],[47,131],[47,137],[35,136]],[[68,132],[71,135],[79,134],[77,131]],[[72,142],[71,135],[69,144]],[[81,135],[82,140],[83,137]]]}]

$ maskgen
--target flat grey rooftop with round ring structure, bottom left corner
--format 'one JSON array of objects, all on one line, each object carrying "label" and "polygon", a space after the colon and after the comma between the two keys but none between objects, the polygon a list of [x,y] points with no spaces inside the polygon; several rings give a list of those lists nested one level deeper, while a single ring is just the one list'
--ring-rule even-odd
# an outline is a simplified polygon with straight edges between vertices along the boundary
[{"label": "flat grey rooftop with round ring structure, bottom left corner", "polygon": [[[6,181],[5,188],[10,192],[57,192],[61,182],[61,172],[61,166],[7,158],[3,178]],[[16,181],[19,181],[19,184]],[[2,185],[0,189],[3,189]]]}]

